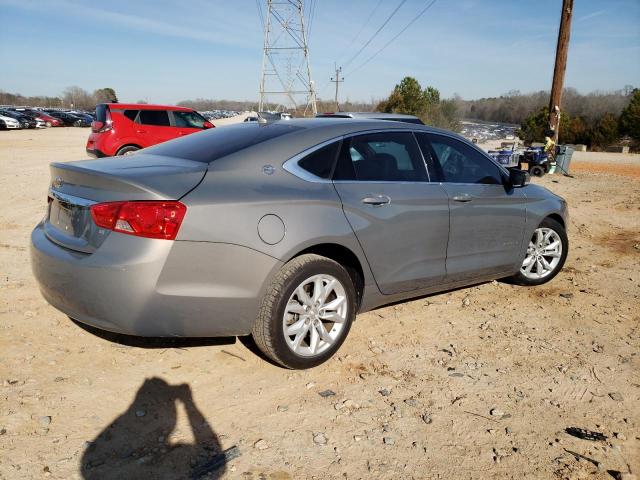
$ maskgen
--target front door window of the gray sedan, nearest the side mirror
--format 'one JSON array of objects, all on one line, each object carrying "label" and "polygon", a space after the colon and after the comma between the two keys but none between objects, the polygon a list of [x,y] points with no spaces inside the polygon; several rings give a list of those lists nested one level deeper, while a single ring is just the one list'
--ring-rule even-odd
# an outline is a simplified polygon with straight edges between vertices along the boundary
[{"label": "front door window of the gray sedan, nearest the side mirror", "polygon": [[473,147],[444,135],[428,137],[444,182],[502,184],[498,166]]}]

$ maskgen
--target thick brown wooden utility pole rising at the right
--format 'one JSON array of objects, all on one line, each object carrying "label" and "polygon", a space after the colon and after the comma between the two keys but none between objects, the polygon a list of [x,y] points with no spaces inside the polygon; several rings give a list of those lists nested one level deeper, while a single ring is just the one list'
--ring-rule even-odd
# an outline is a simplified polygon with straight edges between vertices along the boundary
[{"label": "thick brown wooden utility pole rising at the right", "polygon": [[558,45],[556,46],[556,64],[553,69],[553,84],[551,85],[551,98],[549,99],[549,129],[553,130],[553,140],[556,143],[558,143],[558,133],[560,132],[560,104],[562,102],[562,89],[564,88],[564,73],[567,69],[572,15],[573,0],[562,0],[562,16],[560,17]]}]

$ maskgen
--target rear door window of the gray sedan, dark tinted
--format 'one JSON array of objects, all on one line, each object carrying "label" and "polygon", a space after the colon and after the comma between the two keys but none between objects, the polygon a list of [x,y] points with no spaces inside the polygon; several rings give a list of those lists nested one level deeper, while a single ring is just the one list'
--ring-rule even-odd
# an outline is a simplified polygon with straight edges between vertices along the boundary
[{"label": "rear door window of the gray sedan, dark tinted", "polygon": [[426,182],[427,171],[411,132],[371,133],[349,137],[334,180]]}]

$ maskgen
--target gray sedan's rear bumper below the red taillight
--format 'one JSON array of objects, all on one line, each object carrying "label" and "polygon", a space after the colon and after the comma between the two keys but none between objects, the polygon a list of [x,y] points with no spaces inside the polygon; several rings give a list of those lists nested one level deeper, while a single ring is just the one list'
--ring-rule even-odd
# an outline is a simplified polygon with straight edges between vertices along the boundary
[{"label": "gray sedan's rear bumper below the red taillight", "polygon": [[246,335],[265,281],[281,263],[231,244],[111,233],[93,254],[31,234],[33,273],[45,299],[82,323],[149,337]]}]

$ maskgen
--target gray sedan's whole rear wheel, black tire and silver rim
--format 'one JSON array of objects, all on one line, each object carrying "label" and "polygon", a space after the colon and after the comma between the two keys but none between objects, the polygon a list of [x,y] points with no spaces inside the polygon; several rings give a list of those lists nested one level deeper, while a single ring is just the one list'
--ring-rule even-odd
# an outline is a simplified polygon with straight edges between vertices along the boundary
[{"label": "gray sedan's whole rear wheel, black tire and silver rim", "polygon": [[301,255],[275,276],[252,336],[265,355],[284,367],[315,367],[340,348],[355,309],[347,270],[326,257]]}]

